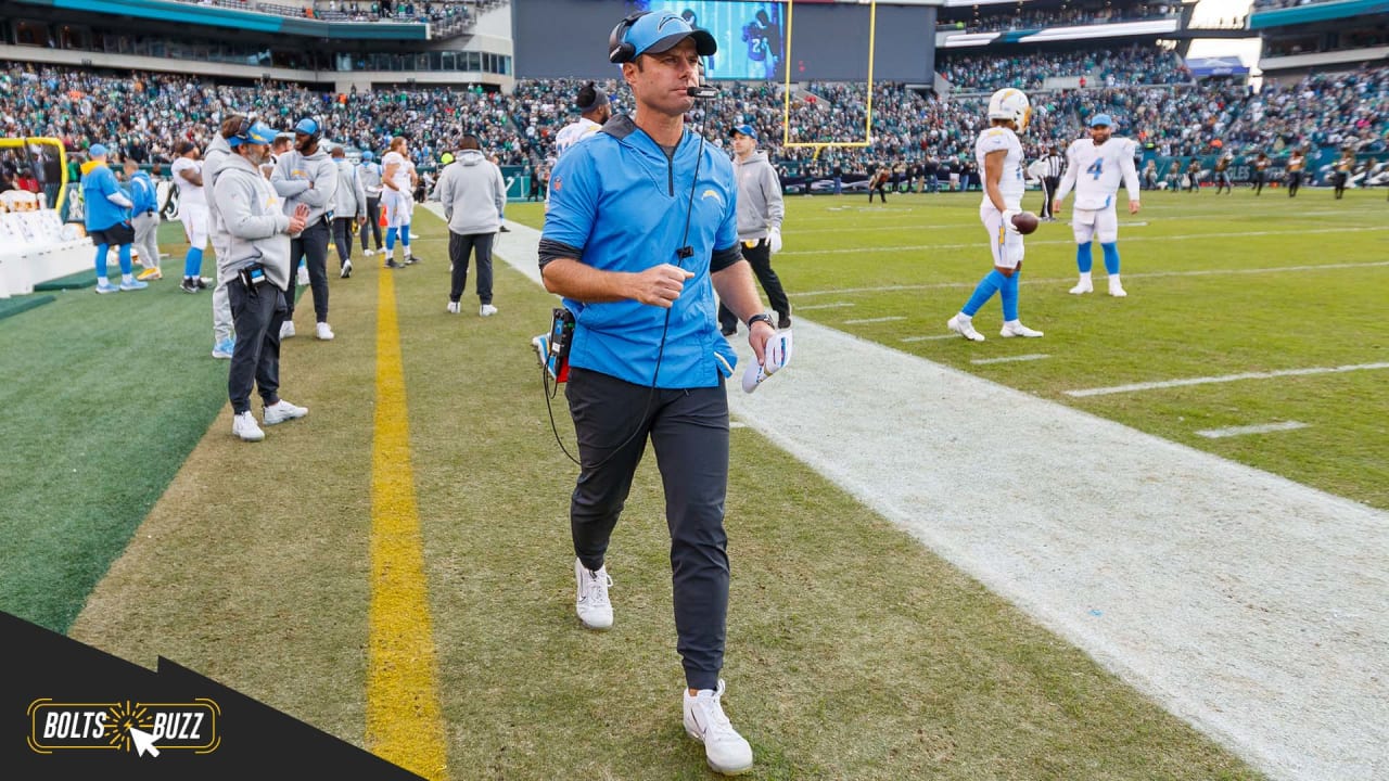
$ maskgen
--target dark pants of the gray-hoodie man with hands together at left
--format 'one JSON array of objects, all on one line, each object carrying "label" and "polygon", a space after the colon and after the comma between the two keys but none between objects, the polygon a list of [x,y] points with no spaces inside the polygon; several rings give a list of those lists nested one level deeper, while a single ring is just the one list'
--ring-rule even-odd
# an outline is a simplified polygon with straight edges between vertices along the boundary
[{"label": "dark pants of the gray-hoodie man with hands together at left", "polygon": [[236,324],[236,347],[226,370],[226,396],[232,411],[242,414],[251,409],[251,382],[265,406],[279,400],[279,325],[285,322],[286,307],[285,292],[275,285],[256,285],[253,296],[240,275],[229,274],[226,297]]}]

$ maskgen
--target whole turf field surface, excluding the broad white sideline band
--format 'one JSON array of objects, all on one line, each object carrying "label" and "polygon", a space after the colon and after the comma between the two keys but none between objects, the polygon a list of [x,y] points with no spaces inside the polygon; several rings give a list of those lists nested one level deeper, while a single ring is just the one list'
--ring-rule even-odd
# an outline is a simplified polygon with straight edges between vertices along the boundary
[{"label": "whole turf field surface, excluding the broad white sideline band", "polygon": [[[1070,229],[1045,224],[1021,315],[1046,336],[997,338],[995,300],[968,343],[945,322],[989,265],[978,200],[789,197],[795,317],[1389,509],[1383,193],[1145,193],[1125,299],[1097,247],[1097,292],[1068,295]],[[207,297],[174,274],[0,320],[0,609],[431,778],[707,777],[653,459],[614,539],[618,625],[582,632],[575,471],[528,345],[554,299],[499,263],[499,315],[471,293],[446,314],[446,231],[418,214],[425,263],[332,278],[336,340],[306,336],[304,293],[282,392],[311,413],[258,445],[229,434]],[[1260,777],[754,431],[732,457],[726,707],[751,777]]]}]

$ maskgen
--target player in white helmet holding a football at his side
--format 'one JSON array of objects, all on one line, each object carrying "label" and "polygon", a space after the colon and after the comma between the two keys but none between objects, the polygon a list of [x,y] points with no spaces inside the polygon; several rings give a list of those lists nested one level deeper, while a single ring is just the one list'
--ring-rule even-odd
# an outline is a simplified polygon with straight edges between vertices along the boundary
[{"label": "player in white helmet holding a football at his side", "polygon": [[1026,129],[1031,117],[1032,107],[1022,90],[1000,89],[989,99],[990,126],[979,133],[979,140],[974,145],[975,160],[983,172],[979,220],[989,233],[993,271],[985,274],[964,309],[946,322],[950,331],[971,342],[983,342],[983,334],[974,329],[974,315],[993,293],[999,293],[1003,302],[1000,336],[1042,335],[1018,321],[1018,275],[1022,272],[1024,250],[1022,233],[1013,225],[1013,217],[1022,211],[1022,192],[1026,188],[1018,133]]}]

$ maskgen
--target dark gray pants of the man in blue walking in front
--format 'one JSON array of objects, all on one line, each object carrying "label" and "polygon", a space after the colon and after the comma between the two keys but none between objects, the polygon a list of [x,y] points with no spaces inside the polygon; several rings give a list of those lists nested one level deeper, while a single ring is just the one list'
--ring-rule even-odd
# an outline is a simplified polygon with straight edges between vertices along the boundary
[{"label": "dark gray pants of the man in blue walking in front", "polygon": [[675,649],[689,687],[718,688],[728,620],[724,382],[714,388],[653,390],[607,374],[571,368],[564,395],[583,464],[569,502],[575,554],[590,570],[603,566],[650,438],[665,488],[665,525],[671,534]]}]

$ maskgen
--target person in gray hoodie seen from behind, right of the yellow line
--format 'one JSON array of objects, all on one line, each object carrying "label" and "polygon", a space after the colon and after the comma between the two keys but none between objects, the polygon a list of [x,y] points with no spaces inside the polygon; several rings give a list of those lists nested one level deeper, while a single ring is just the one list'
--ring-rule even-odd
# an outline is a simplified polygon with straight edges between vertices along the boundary
[{"label": "person in gray hoodie seen from behind, right of the yellow line", "polygon": [[468,282],[468,258],[478,253],[478,314],[497,313],[492,306],[492,242],[501,228],[501,210],[507,206],[507,185],[501,170],[482,156],[478,136],[465,135],[458,156],[446,165],[435,185],[444,218],[449,220],[449,261],[453,264],[453,288],[449,311],[458,313],[458,299]]}]

